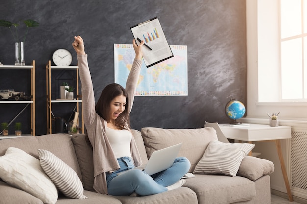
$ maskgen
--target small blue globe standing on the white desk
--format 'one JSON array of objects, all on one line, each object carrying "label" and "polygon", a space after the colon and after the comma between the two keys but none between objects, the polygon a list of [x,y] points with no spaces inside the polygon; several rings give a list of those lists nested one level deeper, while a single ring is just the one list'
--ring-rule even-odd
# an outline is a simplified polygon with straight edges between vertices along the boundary
[{"label": "small blue globe standing on the white desk", "polygon": [[245,114],[245,106],[241,101],[231,99],[225,106],[226,115],[236,122]]}]

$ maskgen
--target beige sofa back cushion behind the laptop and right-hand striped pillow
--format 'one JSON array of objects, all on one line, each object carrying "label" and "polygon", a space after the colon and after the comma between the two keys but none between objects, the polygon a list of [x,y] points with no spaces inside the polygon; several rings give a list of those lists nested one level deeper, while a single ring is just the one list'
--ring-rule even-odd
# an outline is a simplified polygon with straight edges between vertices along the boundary
[{"label": "beige sofa back cushion behind the laptop and right-hand striped pillow", "polygon": [[205,149],[211,140],[217,140],[216,131],[211,128],[198,129],[162,129],[162,128],[142,128],[147,157],[153,151],[183,142],[178,156],[184,156],[191,163],[192,172],[202,158]]}]

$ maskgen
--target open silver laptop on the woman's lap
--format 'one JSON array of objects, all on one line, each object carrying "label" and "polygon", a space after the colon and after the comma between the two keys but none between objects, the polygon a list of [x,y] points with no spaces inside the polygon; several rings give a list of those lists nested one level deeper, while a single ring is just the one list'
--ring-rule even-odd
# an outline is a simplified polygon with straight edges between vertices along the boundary
[{"label": "open silver laptop on the woman's lap", "polygon": [[[148,175],[153,175],[155,173],[164,171],[165,169],[168,169],[172,166],[181,146],[182,143],[179,143],[170,147],[166,147],[164,149],[154,151],[150,156],[147,164],[143,164],[132,169],[141,169]],[[117,174],[121,175],[127,173],[132,169],[128,169],[127,171],[123,171]]]}]

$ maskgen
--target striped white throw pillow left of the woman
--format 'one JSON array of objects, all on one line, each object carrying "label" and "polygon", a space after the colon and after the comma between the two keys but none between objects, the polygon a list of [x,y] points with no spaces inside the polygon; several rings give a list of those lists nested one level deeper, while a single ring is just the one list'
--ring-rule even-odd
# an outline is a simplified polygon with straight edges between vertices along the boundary
[{"label": "striped white throw pillow left of the woman", "polygon": [[84,189],[77,173],[47,150],[38,150],[39,160],[45,173],[55,186],[68,198],[86,199]]}]

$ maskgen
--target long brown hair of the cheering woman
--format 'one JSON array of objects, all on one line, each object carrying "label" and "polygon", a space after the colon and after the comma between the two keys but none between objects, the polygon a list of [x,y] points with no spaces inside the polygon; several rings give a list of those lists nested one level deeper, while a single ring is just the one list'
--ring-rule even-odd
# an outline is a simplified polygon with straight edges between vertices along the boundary
[{"label": "long brown hair of the cheering woman", "polygon": [[124,87],[119,84],[113,83],[107,85],[100,94],[100,97],[96,103],[96,113],[101,116],[104,120],[109,121],[109,111],[110,111],[110,104],[111,101],[117,97],[123,95],[126,97],[126,106],[125,110],[116,118],[115,125],[120,129],[125,128],[125,124],[128,124],[130,127],[129,121],[129,110],[130,110],[130,103],[128,98],[128,93]]}]

